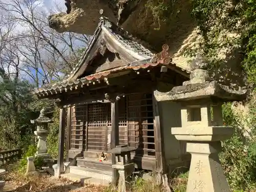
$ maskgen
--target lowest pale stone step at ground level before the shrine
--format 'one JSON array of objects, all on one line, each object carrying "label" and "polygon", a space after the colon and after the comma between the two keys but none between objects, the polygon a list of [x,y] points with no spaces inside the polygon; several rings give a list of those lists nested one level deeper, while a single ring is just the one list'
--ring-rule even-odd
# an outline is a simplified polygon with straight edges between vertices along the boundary
[{"label": "lowest pale stone step at ground level before the shrine", "polygon": [[102,180],[98,178],[93,177],[86,177],[83,175],[73,174],[73,173],[67,173],[67,174],[61,174],[62,178],[67,178],[71,181],[81,183],[84,185],[84,183],[90,183],[90,184],[96,184],[96,185],[109,185],[109,181]]}]

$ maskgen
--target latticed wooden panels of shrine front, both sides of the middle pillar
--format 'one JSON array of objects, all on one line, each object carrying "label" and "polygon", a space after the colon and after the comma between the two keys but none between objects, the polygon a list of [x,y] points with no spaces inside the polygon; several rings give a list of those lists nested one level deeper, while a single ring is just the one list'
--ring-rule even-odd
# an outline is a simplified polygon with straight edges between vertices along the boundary
[{"label": "latticed wooden panels of shrine front, both sides of the middle pillar", "polygon": [[[138,156],[155,156],[152,94],[129,94],[118,106],[119,144],[136,147]],[[71,149],[108,151],[111,127],[111,103],[73,106]]]}]

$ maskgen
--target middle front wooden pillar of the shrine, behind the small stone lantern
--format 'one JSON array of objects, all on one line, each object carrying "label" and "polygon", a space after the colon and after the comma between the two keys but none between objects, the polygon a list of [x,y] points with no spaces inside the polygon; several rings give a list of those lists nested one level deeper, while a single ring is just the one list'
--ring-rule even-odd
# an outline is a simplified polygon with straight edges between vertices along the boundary
[{"label": "middle front wooden pillar of the shrine, behind the small stone lantern", "polygon": [[[118,100],[111,100],[111,148],[115,148],[119,144],[119,113],[118,113]],[[112,165],[116,164],[115,154],[111,155]],[[117,170],[113,168],[112,172],[112,183],[116,186],[117,184]]]}]

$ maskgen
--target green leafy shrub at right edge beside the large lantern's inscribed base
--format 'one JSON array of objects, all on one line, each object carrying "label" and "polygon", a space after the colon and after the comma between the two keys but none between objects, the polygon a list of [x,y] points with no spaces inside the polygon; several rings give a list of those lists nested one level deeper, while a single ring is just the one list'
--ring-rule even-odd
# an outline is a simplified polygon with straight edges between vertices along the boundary
[{"label": "green leafy shrub at right edge beside the large lantern's inscribed base", "polygon": [[[249,190],[256,180],[256,153],[254,139],[242,134],[241,117],[233,113],[231,103],[223,105],[225,124],[234,127],[233,136],[222,142],[220,159],[229,185],[234,190]],[[240,127],[240,129],[238,128]]]}]

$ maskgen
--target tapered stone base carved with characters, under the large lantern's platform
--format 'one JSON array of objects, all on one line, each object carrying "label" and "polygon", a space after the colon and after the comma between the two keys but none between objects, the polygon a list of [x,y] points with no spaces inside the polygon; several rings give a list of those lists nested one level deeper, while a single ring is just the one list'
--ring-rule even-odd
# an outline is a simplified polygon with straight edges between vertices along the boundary
[{"label": "tapered stone base carved with characters, under the large lantern's platform", "polygon": [[191,154],[187,192],[230,191],[219,160],[220,151],[220,141],[187,143],[187,152]]}]

